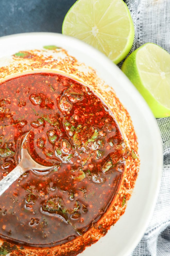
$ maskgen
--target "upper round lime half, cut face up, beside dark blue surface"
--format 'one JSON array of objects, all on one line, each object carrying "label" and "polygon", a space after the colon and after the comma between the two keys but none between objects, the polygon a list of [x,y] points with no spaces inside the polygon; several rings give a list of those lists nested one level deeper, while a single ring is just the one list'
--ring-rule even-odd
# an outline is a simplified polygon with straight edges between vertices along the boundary
[{"label": "upper round lime half, cut face up, beside dark blue surface", "polygon": [[78,0],[64,18],[62,33],[94,46],[117,64],[132,47],[134,25],[123,0]]}]

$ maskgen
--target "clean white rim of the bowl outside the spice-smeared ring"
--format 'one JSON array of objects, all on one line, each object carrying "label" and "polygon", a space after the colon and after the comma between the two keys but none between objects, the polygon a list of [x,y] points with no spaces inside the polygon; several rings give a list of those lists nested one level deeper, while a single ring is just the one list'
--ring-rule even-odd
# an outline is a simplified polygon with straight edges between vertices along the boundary
[{"label": "clean white rim of the bowl outside the spice-smeared ring", "polygon": [[125,213],[97,243],[87,247],[81,255],[125,256],[140,241],[152,216],[161,179],[162,141],[156,120],[145,100],[123,72],[104,54],[79,41],[55,33],[27,33],[0,38],[0,58],[18,51],[57,45],[78,61],[94,68],[99,76],[116,92],[128,110],[139,142],[140,171]]}]

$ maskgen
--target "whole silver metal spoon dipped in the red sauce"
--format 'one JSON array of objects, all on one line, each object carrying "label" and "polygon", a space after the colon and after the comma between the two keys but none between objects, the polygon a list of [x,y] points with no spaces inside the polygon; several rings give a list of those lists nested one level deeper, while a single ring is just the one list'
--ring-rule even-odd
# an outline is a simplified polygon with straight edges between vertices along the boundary
[{"label": "whole silver metal spoon dipped in the red sauce", "polygon": [[[30,131],[29,131],[30,132]],[[28,134],[25,135],[22,145],[21,145],[21,161],[19,164],[0,181],[0,196],[9,188],[12,183],[17,180],[23,173],[28,170],[39,170],[39,171],[47,171],[51,169],[53,166],[43,166],[38,164],[36,161],[32,159],[27,148],[23,147],[23,144],[27,142]],[[38,172],[39,174],[46,174],[47,172]]]}]

